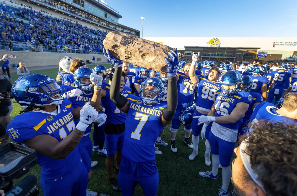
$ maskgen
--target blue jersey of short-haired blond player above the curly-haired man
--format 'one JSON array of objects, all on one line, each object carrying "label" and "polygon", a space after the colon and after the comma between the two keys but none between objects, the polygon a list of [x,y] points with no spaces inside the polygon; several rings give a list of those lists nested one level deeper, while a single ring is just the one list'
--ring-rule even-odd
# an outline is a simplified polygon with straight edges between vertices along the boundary
[{"label": "blue jersey of short-haired blond player above the curly-haired man", "polygon": [[269,102],[263,102],[256,105],[251,116],[251,125],[249,131],[255,129],[254,124],[258,124],[261,119],[269,119],[274,122],[287,122],[287,123],[296,123],[292,118],[287,118],[285,116],[279,115],[277,113],[278,108]]}]

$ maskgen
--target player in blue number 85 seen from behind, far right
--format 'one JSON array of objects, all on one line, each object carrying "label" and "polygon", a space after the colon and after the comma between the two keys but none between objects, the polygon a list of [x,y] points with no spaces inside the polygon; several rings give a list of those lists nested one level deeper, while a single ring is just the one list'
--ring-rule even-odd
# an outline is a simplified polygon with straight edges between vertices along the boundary
[{"label": "player in blue number 85 seen from behind, far right", "polygon": [[275,102],[278,102],[279,99],[282,97],[284,90],[289,87],[291,74],[286,71],[287,65],[283,64],[279,66],[279,69],[277,71],[271,72],[272,74],[274,74],[274,88],[269,90],[267,102],[272,103],[274,97]]}]

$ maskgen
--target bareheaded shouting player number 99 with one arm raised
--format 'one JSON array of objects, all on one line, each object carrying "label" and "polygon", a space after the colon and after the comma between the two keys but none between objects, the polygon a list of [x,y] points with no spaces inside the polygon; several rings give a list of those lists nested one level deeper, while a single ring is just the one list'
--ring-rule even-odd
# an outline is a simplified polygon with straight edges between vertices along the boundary
[{"label": "bareheaded shouting player number 99 with one arm raised", "polygon": [[[220,70],[218,68],[212,67],[209,69],[208,73],[208,80],[203,77],[197,77],[194,73],[194,65],[193,62],[199,59],[199,54],[195,55],[193,53],[192,57],[192,64],[189,70],[189,76],[192,81],[197,86],[197,99],[195,100],[196,102],[191,106],[194,107],[194,113],[193,116],[200,116],[200,115],[207,115],[208,112],[210,111],[212,105],[214,104],[214,93],[220,89],[220,84],[217,83],[217,80],[220,75]],[[199,81],[200,80],[200,81]],[[187,108],[191,109],[191,108]],[[192,142],[193,142],[193,152],[191,155],[189,155],[189,160],[194,160],[195,157],[198,155],[198,143],[199,143],[199,134],[201,132],[202,125],[197,125],[198,120],[197,118],[194,118],[192,121],[192,129],[193,129],[193,134],[192,134]],[[210,166],[211,161],[210,161],[210,144],[208,142],[208,133],[210,131],[211,125],[208,126],[206,130],[205,136],[202,136],[203,138],[206,138],[205,140],[205,164],[207,166]]]}]

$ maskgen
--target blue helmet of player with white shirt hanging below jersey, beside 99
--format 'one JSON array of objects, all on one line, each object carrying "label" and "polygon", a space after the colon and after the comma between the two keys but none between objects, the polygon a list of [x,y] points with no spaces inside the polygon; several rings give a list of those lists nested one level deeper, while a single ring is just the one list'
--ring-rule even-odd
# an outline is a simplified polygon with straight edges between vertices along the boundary
[{"label": "blue helmet of player with white shirt hanging below jersey, beside 99", "polygon": [[[235,70],[227,71],[221,77],[220,86],[225,95],[232,95],[239,92],[241,87],[241,75]],[[231,89],[226,89],[229,87],[231,87]]]}]

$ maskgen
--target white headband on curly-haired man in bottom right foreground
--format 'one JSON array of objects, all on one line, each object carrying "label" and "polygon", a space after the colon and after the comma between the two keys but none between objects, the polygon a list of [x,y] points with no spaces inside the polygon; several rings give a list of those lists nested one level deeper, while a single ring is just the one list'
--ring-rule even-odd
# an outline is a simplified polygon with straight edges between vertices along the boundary
[{"label": "white headband on curly-haired man in bottom right foreground", "polygon": [[246,150],[246,148],[248,146],[247,141],[248,141],[248,139],[245,139],[244,141],[242,141],[240,144],[240,148],[239,148],[242,163],[244,165],[244,168],[247,170],[247,173],[249,173],[249,176],[251,176],[252,180],[256,184],[258,184],[262,188],[262,190],[265,192],[265,190],[263,188],[263,184],[260,181],[258,181],[257,170],[260,170],[261,167],[259,166],[256,170],[252,169],[250,156],[244,152],[244,150]]}]

